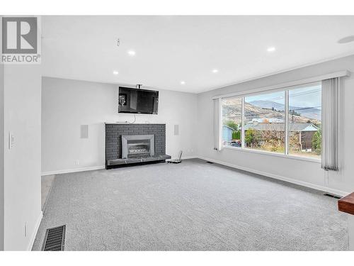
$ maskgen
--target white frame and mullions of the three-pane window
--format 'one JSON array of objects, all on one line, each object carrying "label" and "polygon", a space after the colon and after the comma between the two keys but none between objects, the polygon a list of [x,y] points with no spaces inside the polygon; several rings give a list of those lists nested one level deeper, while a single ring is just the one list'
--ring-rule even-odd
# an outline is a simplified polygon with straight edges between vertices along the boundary
[{"label": "white frame and mullions of the three-pane window", "polygon": [[[301,155],[292,155],[289,154],[289,95],[290,95],[290,91],[291,90],[295,90],[295,89],[299,89],[299,87],[305,87],[307,85],[311,85],[311,84],[320,84],[321,82],[309,82],[309,83],[305,83],[305,84],[298,84],[295,86],[291,86],[291,87],[282,87],[282,88],[278,88],[278,89],[273,89],[273,90],[265,90],[265,91],[260,91],[260,92],[256,92],[256,93],[250,93],[250,94],[240,94],[240,95],[234,95],[234,96],[222,96],[220,97],[221,101],[221,109],[222,109],[222,99],[227,99],[227,98],[241,98],[241,147],[232,147],[232,146],[228,146],[228,145],[223,145],[222,144],[222,149],[229,149],[229,150],[239,150],[241,152],[246,152],[246,153],[256,153],[256,154],[263,154],[263,155],[271,155],[271,156],[275,156],[275,157],[285,157],[285,158],[291,158],[291,159],[295,159],[295,160],[303,160],[303,161],[307,161],[307,162],[321,162],[321,155],[319,158],[314,158],[314,157],[306,157],[306,156],[301,156]],[[322,89],[322,88],[321,88]],[[270,94],[273,92],[284,92],[284,110],[286,111],[284,113],[285,116],[285,121],[284,121],[284,153],[275,153],[272,151],[268,151],[268,150],[255,150],[255,149],[251,149],[251,148],[247,148],[245,146],[245,130],[244,130],[244,126],[245,126],[245,112],[244,112],[244,106],[245,106],[245,99],[247,96],[254,96],[254,95],[262,95],[262,94]],[[222,119],[222,117],[221,117]],[[220,126],[222,128],[223,124],[220,123]],[[222,138],[222,136],[220,136],[220,138]]]}]

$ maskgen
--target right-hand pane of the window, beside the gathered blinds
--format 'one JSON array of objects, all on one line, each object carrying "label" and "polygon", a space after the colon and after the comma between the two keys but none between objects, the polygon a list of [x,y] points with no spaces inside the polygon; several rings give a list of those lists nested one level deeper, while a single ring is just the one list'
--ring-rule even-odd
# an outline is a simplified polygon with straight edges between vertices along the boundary
[{"label": "right-hand pane of the window, beside the gathered blinds", "polygon": [[321,158],[321,84],[289,91],[289,154]]}]

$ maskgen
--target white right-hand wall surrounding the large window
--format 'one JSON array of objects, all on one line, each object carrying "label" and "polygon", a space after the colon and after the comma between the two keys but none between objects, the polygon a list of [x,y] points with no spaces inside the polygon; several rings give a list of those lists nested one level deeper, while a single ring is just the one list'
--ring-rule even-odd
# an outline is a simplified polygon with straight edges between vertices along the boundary
[{"label": "white right-hand wall surrounding the large window", "polygon": [[212,96],[232,92],[244,92],[249,89],[282,84],[298,79],[328,74],[338,70],[354,71],[354,55],[318,65],[303,67],[298,70],[275,74],[270,77],[255,79],[250,82],[215,89],[198,94],[198,155],[245,170],[252,170],[270,177],[290,179],[292,182],[307,184],[311,187],[326,188],[337,194],[354,191],[354,75],[342,79],[341,84],[341,171],[329,172],[329,178],[318,162],[307,162],[290,158],[275,157],[239,150],[213,150],[213,105]]}]

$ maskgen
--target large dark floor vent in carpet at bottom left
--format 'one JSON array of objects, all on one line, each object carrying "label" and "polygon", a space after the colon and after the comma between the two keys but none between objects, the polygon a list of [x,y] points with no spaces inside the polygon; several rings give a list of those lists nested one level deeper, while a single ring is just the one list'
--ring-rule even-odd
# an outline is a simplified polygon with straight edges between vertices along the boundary
[{"label": "large dark floor vent in carpet at bottom left", "polygon": [[57,226],[45,231],[43,251],[63,251],[65,241],[65,226]]}]

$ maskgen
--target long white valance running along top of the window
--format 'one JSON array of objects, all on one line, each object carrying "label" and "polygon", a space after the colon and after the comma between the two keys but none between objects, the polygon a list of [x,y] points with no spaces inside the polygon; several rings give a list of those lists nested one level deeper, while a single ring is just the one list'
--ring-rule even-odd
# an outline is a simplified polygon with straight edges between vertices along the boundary
[{"label": "long white valance running along top of the window", "polygon": [[348,70],[341,70],[338,72],[324,74],[321,76],[309,77],[307,79],[299,79],[299,80],[294,80],[292,82],[285,82],[285,83],[272,85],[272,86],[260,87],[260,88],[256,88],[256,89],[249,89],[249,90],[246,90],[243,92],[233,92],[230,94],[217,95],[217,96],[213,96],[212,99],[222,99],[222,98],[227,98],[227,97],[232,97],[232,96],[242,96],[242,95],[254,94],[254,93],[258,93],[258,92],[270,92],[270,91],[274,91],[277,89],[285,89],[287,87],[294,87],[294,86],[298,86],[298,85],[302,85],[302,84],[320,82],[321,80],[331,79],[333,77],[347,77],[347,76],[350,76],[350,72]]}]

